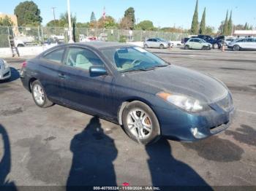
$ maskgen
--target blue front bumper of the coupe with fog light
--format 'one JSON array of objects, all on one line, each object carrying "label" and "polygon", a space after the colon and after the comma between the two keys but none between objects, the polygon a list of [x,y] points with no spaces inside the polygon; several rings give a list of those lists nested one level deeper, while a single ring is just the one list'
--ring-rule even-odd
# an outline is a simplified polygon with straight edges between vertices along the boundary
[{"label": "blue front bumper of the coupe with fog light", "polygon": [[[160,109],[160,108],[159,108]],[[158,110],[158,109],[157,109]],[[181,111],[181,109],[163,109],[158,115],[162,136],[178,141],[198,141],[217,134],[230,126],[235,109],[233,106],[225,111],[215,106],[206,112],[197,114]],[[194,130],[196,129],[196,134]]]}]

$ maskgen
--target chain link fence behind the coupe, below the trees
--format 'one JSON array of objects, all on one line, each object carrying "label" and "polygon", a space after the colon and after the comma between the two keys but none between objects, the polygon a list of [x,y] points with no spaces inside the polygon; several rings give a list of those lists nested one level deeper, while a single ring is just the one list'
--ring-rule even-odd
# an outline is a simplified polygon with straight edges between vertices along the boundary
[{"label": "chain link fence behind the coupe, below the trees", "polygon": [[[40,46],[56,41],[68,42],[68,28],[61,27],[5,27],[0,26],[0,47],[10,47],[8,36],[14,35],[15,45]],[[168,33],[162,31],[129,31],[105,28],[75,28],[76,42],[84,42],[92,37],[108,42],[141,42],[152,37],[168,41],[181,41],[188,34]]]}]

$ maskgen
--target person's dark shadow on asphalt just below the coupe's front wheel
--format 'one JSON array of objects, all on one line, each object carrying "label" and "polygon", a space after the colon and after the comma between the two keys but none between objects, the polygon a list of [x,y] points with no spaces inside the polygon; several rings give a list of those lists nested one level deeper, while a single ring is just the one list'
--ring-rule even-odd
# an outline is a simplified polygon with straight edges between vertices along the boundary
[{"label": "person's dark shadow on asphalt just below the coupe's front wheel", "polygon": [[[204,188],[211,187],[189,165],[176,160],[167,139],[160,139],[155,144],[146,146],[148,167],[151,172],[152,185],[157,187],[170,186]],[[181,187],[181,188],[182,188]],[[168,190],[167,189],[167,190]]]}]

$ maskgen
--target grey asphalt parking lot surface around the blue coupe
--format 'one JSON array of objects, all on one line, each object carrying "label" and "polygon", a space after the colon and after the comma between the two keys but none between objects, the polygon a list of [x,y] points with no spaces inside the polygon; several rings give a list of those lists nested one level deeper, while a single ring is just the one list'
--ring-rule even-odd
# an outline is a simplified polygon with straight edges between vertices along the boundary
[{"label": "grey asphalt parking lot surface around the blue coupe", "polygon": [[145,147],[111,122],[58,105],[40,109],[21,85],[23,58],[10,58],[12,79],[0,83],[0,185],[256,185],[255,52],[150,51],[225,82],[233,125],[203,141]]}]

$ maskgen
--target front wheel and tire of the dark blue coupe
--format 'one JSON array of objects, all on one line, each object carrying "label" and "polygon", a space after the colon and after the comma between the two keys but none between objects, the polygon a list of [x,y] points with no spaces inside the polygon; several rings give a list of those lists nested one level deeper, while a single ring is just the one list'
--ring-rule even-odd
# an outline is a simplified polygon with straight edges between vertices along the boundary
[{"label": "front wheel and tire of the dark blue coupe", "polygon": [[133,101],[125,107],[122,122],[125,132],[134,141],[149,144],[159,139],[157,116],[148,105],[140,101]]}]

